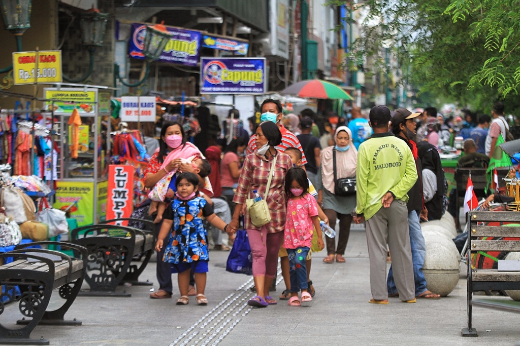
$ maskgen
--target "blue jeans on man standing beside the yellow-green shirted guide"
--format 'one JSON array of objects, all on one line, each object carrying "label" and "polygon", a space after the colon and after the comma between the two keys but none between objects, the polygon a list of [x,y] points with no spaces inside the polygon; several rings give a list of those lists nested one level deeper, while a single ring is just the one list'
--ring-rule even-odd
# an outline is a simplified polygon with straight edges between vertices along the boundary
[{"label": "blue jeans on man standing beside the yellow-green shirted guide", "polygon": [[[421,231],[421,224],[419,224],[420,212],[411,211],[408,213],[408,226],[410,229],[410,247],[412,249],[412,263],[413,263],[413,279],[415,281],[415,296],[419,296],[426,292],[426,279],[422,271],[424,266],[424,258],[426,257],[426,244]],[[392,254],[390,254],[392,255]],[[397,293],[395,287],[394,275],[392,266],[388,272],[388,279],[386,280],[386,287],[388,295]]]}]

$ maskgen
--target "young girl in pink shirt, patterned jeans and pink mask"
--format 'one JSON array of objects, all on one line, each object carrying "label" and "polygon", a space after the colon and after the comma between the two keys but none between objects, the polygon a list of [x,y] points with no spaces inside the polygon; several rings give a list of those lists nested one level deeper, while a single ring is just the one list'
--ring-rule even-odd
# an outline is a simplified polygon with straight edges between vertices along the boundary
[{"label": "young girl in pink shirt, patterned jeans and pink mask", "polygon": [[[289,255],[291,298],[289,306],[299,307],[313,298],[308,293],[305,258],[309,252],[314,229],[318,232],[318,246],[322,249],[323,236],[318,219],[318,204],[309,193],[307,174],[302,168],[291,168],[285,175],[287,219],[283,234],[283,247]],[[298,292],[302,291],[302,298]]]}]

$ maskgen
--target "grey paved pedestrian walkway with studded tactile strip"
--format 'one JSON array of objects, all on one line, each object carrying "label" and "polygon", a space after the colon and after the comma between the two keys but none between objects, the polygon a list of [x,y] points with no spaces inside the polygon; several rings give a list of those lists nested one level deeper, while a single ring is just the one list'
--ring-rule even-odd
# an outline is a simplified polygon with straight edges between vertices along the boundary
[{"label": "grey paved pedestrian walkway with studded tactile strip", "polygon": [[[311,279],[316,296],[309,307],[286,301],[263,309],[246,302],[251,276],[227,273],[228,252],[212,251],[207,307],[190,297],[187,306],[174,299],[152,300],[150,286],[120,287],[130,298],[78,297],[68,312],[82,326],[38,326],[32,337],[51,345],[514,345],[520,342],[518,315],[474,308],[476,339],[461,337],[466,326],[466,280],[446,298],[406,304],[369,304],[369,259],[365,231],[355,228],[344,264],[323,264],[325,252],[314,254]],[[141,279],[155,280],[151,262]],[[279,278],[281,279],[281,278]],[[174,280],[176,278],[174,276]],[[174,284],[175,286],[175,284]],[[154,286],[157,289],[157,285]],[[279,296],[283,282],[278,284]],[[58,295],[55,295],[58,296]]]}]

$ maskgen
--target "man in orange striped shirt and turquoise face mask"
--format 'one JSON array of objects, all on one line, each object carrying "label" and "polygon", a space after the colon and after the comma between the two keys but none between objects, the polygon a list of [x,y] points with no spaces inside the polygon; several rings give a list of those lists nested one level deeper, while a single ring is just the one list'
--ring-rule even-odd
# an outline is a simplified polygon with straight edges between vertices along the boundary
[{"label": "man in orange striped shirt and turquoise face mask", "polygon": [[[302,152],[302,165],[307,163],[305,153],[303,152],[302,145],[298,141],[297,137],[291,131],[287,130],[281,123],[282,120],[282,104],[278,100],[266,99],[262,103],[262,117],[261,121],[272,121],[278,125],[280,132],[282,133],[282,143],[276,146],[276,149],[283,153],[287,148],[296,148]],[[248,154],[252,154],[256,150],[255,144],[256,135],[252,135],[248,143]]]}]

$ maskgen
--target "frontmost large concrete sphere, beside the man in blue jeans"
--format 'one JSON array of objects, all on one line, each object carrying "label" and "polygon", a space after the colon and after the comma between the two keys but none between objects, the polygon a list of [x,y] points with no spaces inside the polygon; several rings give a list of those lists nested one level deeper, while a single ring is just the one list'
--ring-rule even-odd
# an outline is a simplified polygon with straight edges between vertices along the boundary
[{"label": "frontmost large concrete sphere, beside the man in blue jeans", "polygon": [[426,241],[424,260],[426,287],[433,293],[446,297],[459,282],[459,252],[453,241]]}]

